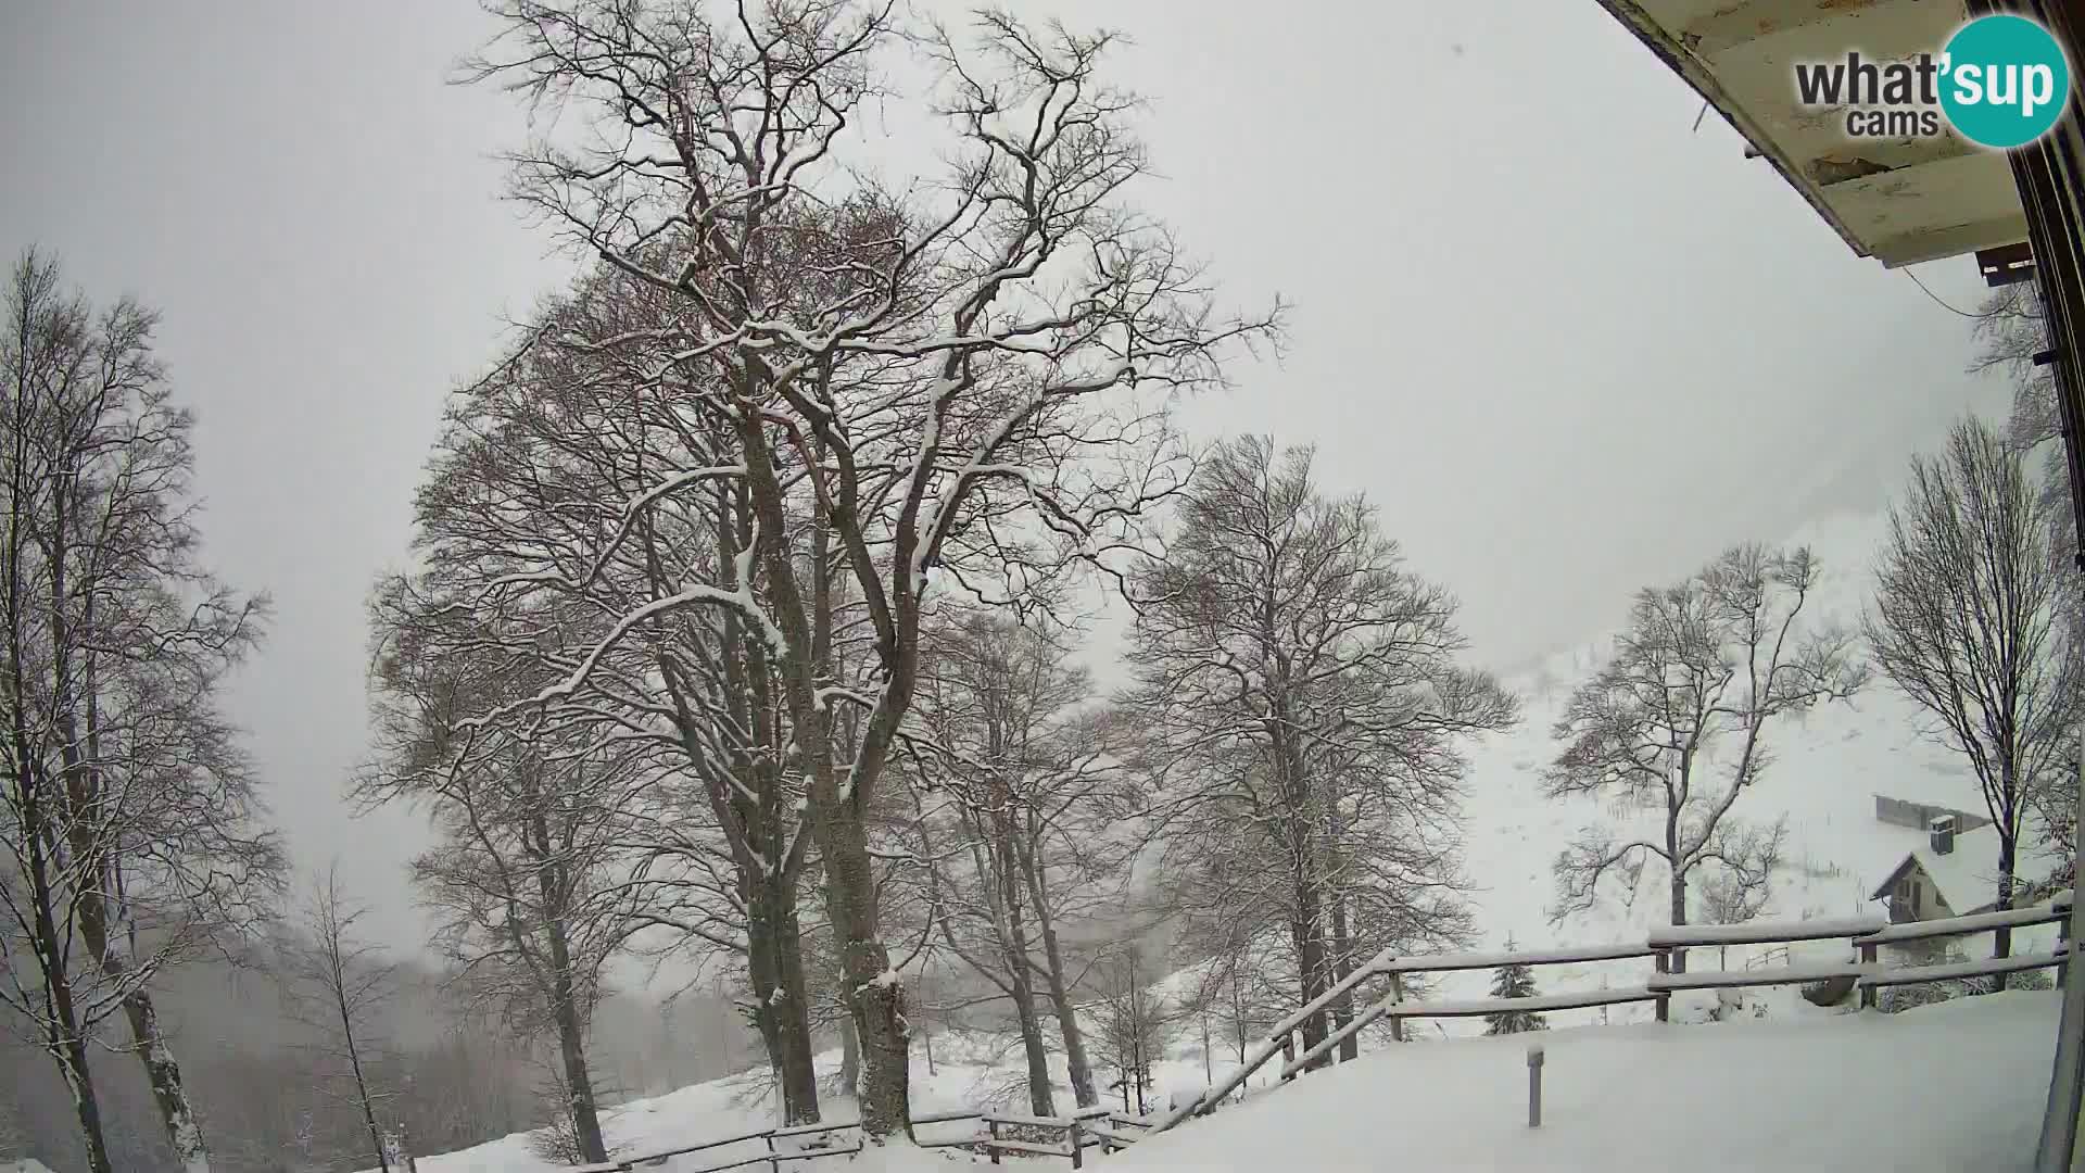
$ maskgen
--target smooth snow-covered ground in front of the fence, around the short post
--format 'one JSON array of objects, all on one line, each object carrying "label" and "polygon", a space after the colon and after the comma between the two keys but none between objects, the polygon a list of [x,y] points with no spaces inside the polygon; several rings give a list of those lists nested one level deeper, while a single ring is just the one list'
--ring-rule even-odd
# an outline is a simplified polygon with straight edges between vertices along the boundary
[{"label": "smooth snow-covered ground in front of the fence, around the short post", "polygon": [[1526,1127],[1526,1039],[1387,1048],[1182,1123],[1103,1163],[1282,1169],[2027,1169],[2056,994],[1904,1014],[1585,1027],[1545,1048]]}]

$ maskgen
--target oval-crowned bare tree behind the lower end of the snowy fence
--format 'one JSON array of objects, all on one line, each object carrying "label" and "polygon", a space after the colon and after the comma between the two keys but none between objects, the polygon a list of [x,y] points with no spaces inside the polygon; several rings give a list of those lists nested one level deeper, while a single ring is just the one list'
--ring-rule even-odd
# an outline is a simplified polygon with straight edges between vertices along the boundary
[{"label": "oval-crowned bare tree behind the lower end of the snowy fence", "polygon": [[[1222,442],[1132,597],[1124,708],[1168,904],[1286,937],[1291,1004],[1384,945],[1460,941],[1460,747],[1516,703],[1460,664],[1455,597],[1405,570],[1374,507],[1324,497],[1309,449]],[[1305,1044],[1326,1033],[1324,1012],[1303,1023]]]}]

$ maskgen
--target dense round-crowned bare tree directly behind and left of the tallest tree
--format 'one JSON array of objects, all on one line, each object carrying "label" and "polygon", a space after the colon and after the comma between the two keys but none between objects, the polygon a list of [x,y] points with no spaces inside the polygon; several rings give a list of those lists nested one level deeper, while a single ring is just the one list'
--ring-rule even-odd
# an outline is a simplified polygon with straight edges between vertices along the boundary
[{"label": "dense round-crowned bare tree directly behind and left of the tallest tree", "polygon": [[[651,334],[653,346],[586,338]],[[563,728],[648,758],[642,806],[623,812],[640,948],[680,964],[730,958],[776,1071],[784,1119],[819,1119],[811,1069],[813,979],[801,945],[811,831],[803,766],[765,630],[732,607],[684,607],[719,580],[765,599],[765,570],[732,551],[755,530],[751,501],[721,478],[713,430],[673,415],[646,386],[673,351],[657,288],[605,267],[534,324],[500,367],[455,397],[417,526],[425,572],[411,589],[467,612],[477,639],[561,680],[555,695],[473,720]],[[659,490],[661,484],[678,486]],[[790,557],[811,584],[813,645],[836,683],[867,660],[830,534],[790,516]],[[542,607],[642,614],[626,639],[557,647]],[[836,722],[859,737],[859,714]]]}]

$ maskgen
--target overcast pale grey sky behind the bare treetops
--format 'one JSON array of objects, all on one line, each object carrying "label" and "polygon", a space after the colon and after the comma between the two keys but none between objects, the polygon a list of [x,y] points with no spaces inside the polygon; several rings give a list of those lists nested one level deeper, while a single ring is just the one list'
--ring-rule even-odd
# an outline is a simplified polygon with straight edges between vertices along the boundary
[{"label": "overcast pale grey sky behind the bare treetops", "polygon": [[[953,6],[951,6],[953,8]],[[1243,303],[1295,301],[1280,365],[1195,405],[1320,447],[1482,660],[1618,622],[1739,538],[1874,509],[2006,392],[1966,321],[1860,261],[1593,0],[1063,0],[1132,38],[1174,221]],[[521,113],[448,88],[461,0],[27,2],[0,10],[0,246],[165,309],[200,411],[208,553],[275,595],[238,718],[304,864],[344,856],[417,937],[413,820],[348,820],[363,599],[404,557],[448,386],[569,263],[498,202]],[[1918,269],[1972,307],[1972,265]]]}]

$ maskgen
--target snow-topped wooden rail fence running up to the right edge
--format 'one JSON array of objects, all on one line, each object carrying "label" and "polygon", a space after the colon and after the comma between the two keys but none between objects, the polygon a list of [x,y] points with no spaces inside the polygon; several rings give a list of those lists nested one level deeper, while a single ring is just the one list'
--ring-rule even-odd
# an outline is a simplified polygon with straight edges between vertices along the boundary
[{"label": "snow-topped wooden rail fence running up to the right edge", "polygon": [[[2062,925],[2064,941],[2045,954],[2022,954],[2012,958],[1993,958],[1977,962],[1956,962],[1956,964],[1933,964],[1933,966],[1899,966],[1889,968],[1876,962],[1876,945],[1899,943],[1899,941],[1924,941],[1935,937],[1960,937],[1968,933],[1989,933],[1995,929],[2020,929],[2029,925]],[[1658,1021],[1668,1021],[1670,998],[1676,989],[1735,989],[1745,985],[1810,985],[1816,981],[1851,981],[1860,989],[1862,1006],[1874,1006],[1874,991],[1887,985],[1914,985],[1927,981],[1956,981],[1964,977],[1987,977],[2000,973],[2018,973],[2029,968],[2045,968],[2062,964],[2070,958],[2070,893],[2058,893],[2047,904],[2037,904],[2031,908],[2014,908],[2006,912],[1981,912],[1974,916],[1952,916],[1945,920],[1918,920],[1908,925],[1891,925],[1885,916],[1843,916],[1843,918],[1822,918],[1822,920],[1753,920],[1745,925],[1678,925],[1651,929],[1643,943],[1618,943],[1618,945],[1591,945],[1591,948],[1564,948],[1564,950],[1522,950],[1522,952],[1493,952],[1493,954],[1420,954],[1393,958],[1389,950],[1370,958],[1368,964],[1355,968],[1345,979],[1341,979],[1332,989],[1326,989],[1309,1004],[1297,1012],[1282,1019],[1268,1037],[1251,1052],[1251,1056],[1232,1071],[1222,1083],[1207,1087],[1195,1100],[1180,1104],[1166,1115],[1153,1119],[1147,1125],[1145,1135],[1166,1131],[1188,1117],[1201,1117],[1213,1112],[1224,1100],[1230,1098],[1255,1071],[1266,1067],[1276,1054],[1286,1056],[1280,1069],[1280,1079],[1286,1083],[1305,1071],[1314,1071],[1328,1062],[1330,1054],[1339,1044],[1368,1029],[1370,1025],[1389,1019],[1393,1029],[1399,1027],[1403,1019],[1451,1019],[1451,1016],[1476,1016],[1476,1014],[1499,1014],[1510,1010],[1576,1010],[1587,1006],[1616,1006],[1624,1002],[1655,1002]],[[1685,960],[1691,948],[1716,948],[1716,945],[1781,945],[1779,954],[1789,956],[1787,945],[1793,941],[1829,941],[1847,939],[1860,952],[1858,962],[1839,964],[1804,964],[1804,966],[1768,966],[1768,968],[1743,968],[1743,971],[1697,971],[1697,973],[1672,973],[1674,960]],[[1628,958],[1653,958],[1655,973],[1641,987],[1624,989],[1591,989],[1583,994],[1543,994],[1532,998],[1474,998],[1474,1000],[1443,1000],[1443,1002],[1412,1002],[1403,996],[1401,975],[1407,973],[1447,973],[1447,971],[1468,971],[1468,968],[1499,968],[1507,964],[1578,964],[1578,962],[1601,962],[1601,960],[1628,960]],[[1311,1044],[1307,1050],[1297,1054],[1293,1035],[1309,1021],[1314,1014],[1330,1008],[1345,994],[1359,987],[1364,981],[1374,977],[1387,977],[1391,981],[1391,994],[1380,1002],[1374,1002],[1359,1014],[1353,1014],[1347,1025],[1330,1031],[1320,1042]],[[2058,973],[2062,981],[2062,973]]]}]

